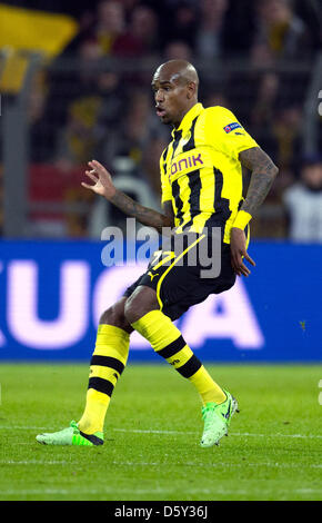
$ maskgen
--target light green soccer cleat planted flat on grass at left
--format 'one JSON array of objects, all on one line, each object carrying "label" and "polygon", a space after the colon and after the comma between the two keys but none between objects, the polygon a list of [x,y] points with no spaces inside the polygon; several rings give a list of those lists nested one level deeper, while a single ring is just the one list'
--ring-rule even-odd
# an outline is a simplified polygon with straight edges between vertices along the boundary
[{"label": "light green soccer cleat planted flat on grass at left", "polygon": [[76,422],[71,422],[68,428],[62,431],[39,434],[36,436],[38,443],[43,445],[82,445],[95,446],[104,443],[104,435],[102,432],[94,434],[84,434],[81,432]]}]

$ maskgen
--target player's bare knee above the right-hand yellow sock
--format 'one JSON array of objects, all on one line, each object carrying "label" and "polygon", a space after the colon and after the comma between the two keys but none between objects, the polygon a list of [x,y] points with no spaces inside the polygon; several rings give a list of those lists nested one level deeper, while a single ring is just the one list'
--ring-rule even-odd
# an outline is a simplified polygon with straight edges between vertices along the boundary
[{"label": "player's bare knee above the right-hand yellow sock", "polygon": [[159,308],[155,290],[150,287],[141,287],[127,299],[124,315],[127,320],[133,324],[145,314]]}]

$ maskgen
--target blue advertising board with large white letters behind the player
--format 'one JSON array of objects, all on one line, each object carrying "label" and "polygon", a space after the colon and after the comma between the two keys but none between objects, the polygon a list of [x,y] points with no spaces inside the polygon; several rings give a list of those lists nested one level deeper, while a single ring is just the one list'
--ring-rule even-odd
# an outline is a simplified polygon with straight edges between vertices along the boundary
[{"label": "blue advertising board with large white letters behind the player", "polygon": [[[145,268],[105,267],[102,241],[0,241],[0,361],[89,361],[102,312]],[[322,245],[253,243],[249,278],[177,323],[217,362],[322,361]],[[135,249],[134,249],[135,253]],[[159,363],[131,335],[130,359]]]}]

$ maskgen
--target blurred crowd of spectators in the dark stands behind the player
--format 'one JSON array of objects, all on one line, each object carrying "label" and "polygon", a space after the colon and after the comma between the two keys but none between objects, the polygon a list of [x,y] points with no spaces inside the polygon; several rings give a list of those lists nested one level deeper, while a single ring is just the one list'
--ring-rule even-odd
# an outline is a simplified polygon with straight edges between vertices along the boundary
[{"label": "blurred crowd of spectators in the dark stands behind the player", "polygon": [[315,150],[308,154],[303,139],[321,2],[33,0],[28,7],[79,23],[63,52],[38,70],[28,99],[30,198],[61,200],[67,209],[33,213],[33,236],[100,237],[104,226],[122,223],[80,186],[92,158],[134,198],[159,207],[159,156],[171,129],[154,115],[151,76],[162,61],[183,58],[199,70],[203,105],[231,109],[280,168],[253,236],[322,241],[321,117]]}]

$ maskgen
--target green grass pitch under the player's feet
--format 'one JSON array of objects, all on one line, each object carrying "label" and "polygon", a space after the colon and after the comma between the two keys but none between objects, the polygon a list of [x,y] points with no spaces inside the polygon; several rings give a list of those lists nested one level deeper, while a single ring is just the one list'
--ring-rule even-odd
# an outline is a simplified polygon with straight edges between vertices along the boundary
[{"label": "green grass pitch under the player's feet", "polygon": [[322,366],[207,367],[241,413],[204,450],[199,398],[165,364],[128,366],[102,447],[34,440],[79,420],[87,365],[1,365],[0,500],[322,500]]}]

